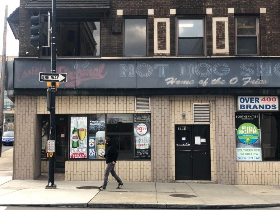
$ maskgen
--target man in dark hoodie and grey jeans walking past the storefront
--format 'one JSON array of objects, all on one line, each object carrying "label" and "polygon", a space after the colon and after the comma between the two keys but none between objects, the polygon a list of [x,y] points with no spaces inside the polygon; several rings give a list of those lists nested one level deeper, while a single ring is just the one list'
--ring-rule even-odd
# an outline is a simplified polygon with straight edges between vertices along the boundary
[{"label": "man in dark hoodie and grey jeans walking past the storefront", "polygon": [[124,183],[122,182],[122,180],[119,178],[119,176],[115,172],[115,164],[117,162],[119,152],[116,150],[116,148],[113,145],[112,140],[109,137],[105,138],[105,143],[107,145],[106,154],[101,155],[101,157],[106,158],[107,167],[106,167],[105,173],[104,173],[104,183],[102,186],[98,187],[97,189],[100,189],[100,190],[106,189],[106,186],[108,183],[108,176],[109,176],[110,172],[111,172],[111,175],[115,178],[115,180],[119,183],[119,186],[117,187],[117,189],[120,189],[122,186],[124,186]]}]

